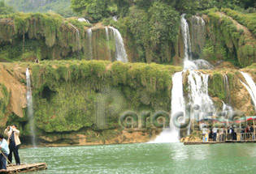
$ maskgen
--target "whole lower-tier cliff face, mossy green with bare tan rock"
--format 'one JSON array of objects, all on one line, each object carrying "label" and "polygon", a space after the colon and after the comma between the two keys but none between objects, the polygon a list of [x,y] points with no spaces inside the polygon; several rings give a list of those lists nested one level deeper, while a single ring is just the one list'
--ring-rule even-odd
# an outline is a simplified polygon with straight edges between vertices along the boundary
[{"label": "whole lower-tier cliff face, mossy green with bare tan rock", "polygon": [[[150,141],[161,132],[153,125],[154,113],[159,110],[170,113],[171,83],[175,83],[171,82],[171,74],[181,70],[175,66],[96,61],[55,61],[20,66],[1,64],[0,83],[9,94],[6,95],[4,90],[0,92],[0,100],[7,99],[1,127],[4,129],[15,122],[20,128],[24,144],[29,139],[28,116],[24,112],[24,72],[27,66],[32,74],[38,142],[44,146]],[[242,71],[256,79],[254,69]],[[216,108],[219,106],[222,109],[222,100],[228,102],[223,79],[223,74],[226,74],[232,108],[243,112],[240,115],[255,114],[249,92],[241,84],[245,79],[238,70],[202,70],[202,73],[209,74],[208,90]],[[188,95],[185,79],[184,94]],[[134,129],[124,128],[123,123],[120,123],[120,116],[125,111],[133,114],[127,121],[133,119],[137,123],[131,125]],[[147,115],[145,112],[150,112],[150,118],[144,118]],[[102,114],[106,116],[105,121],[102,121]]]}]

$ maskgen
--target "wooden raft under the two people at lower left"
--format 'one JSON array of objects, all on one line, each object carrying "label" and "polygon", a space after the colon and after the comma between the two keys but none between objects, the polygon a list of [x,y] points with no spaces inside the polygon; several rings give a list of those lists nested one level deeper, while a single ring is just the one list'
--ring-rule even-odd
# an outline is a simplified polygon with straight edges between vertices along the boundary
[{"label": "wooden raft under the two people at lower left", "polygon": [[20,164],[16,165],[7,165],[7,170],[1,169],[0,173],[20,173],[20,172],[31,172],[37,170],[47,169],[46,163],[29,163],[29,164]]}]

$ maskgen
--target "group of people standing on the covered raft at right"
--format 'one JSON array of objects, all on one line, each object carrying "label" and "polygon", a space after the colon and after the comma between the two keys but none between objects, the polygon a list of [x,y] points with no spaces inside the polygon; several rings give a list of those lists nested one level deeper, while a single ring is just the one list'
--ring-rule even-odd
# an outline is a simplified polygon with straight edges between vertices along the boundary
[{"label": "group of people standing on the covered raft at right", "polygon": [[239,134],[239,140],[245,140],[252,138],[254,139],[254,126],[247,125],[246,129],[245,126],[241,126],[240,128],[236,128],[236,125],[231,126],[221,126],[218,127],[211,127],[208,128],[206,125],[202,128],[202,141],[209,142],[209,141],[219,141],[223,142],[225,140],[237,140],[237,136]]}]

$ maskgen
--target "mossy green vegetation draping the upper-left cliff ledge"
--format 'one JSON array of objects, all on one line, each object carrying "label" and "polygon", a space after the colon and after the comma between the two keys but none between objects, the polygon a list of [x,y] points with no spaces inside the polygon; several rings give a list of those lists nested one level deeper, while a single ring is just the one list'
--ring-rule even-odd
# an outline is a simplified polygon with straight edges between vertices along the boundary
[{"label": "mossy green vegetation draping the upper-left cliff ledge", "polygon": [[[63,19],[54,13],[15,13],[8,18],[0,16],[0,20],[1,60],[72,58],[77,57],[76,52],[88,45],[83,40],[86,40],[85,31],[91,24],[77,19]],[[80,32],[79,38],[76,28]],[[85,44],[81,45],[80,42]]]}]

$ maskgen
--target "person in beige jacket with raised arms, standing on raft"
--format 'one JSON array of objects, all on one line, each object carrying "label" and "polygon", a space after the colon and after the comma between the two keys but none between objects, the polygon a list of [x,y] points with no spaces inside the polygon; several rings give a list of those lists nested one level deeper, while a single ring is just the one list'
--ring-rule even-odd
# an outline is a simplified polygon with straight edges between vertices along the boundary
[{"label": "person in beige jacket with raised arms, standing on raft", "polygon": [[[19,156],[19,145],[20,145],[20,130],[17,129],[16,125],[8,126],[7,129],[4,130],[4,134],[8,135],[8,144],[10,149],[10,154],[8,155],[8,159],[12,161],[12,152],[15,156],[16,165],[20,165],[20,156]],[[8,162],[9,163],[9,162]]]}]

